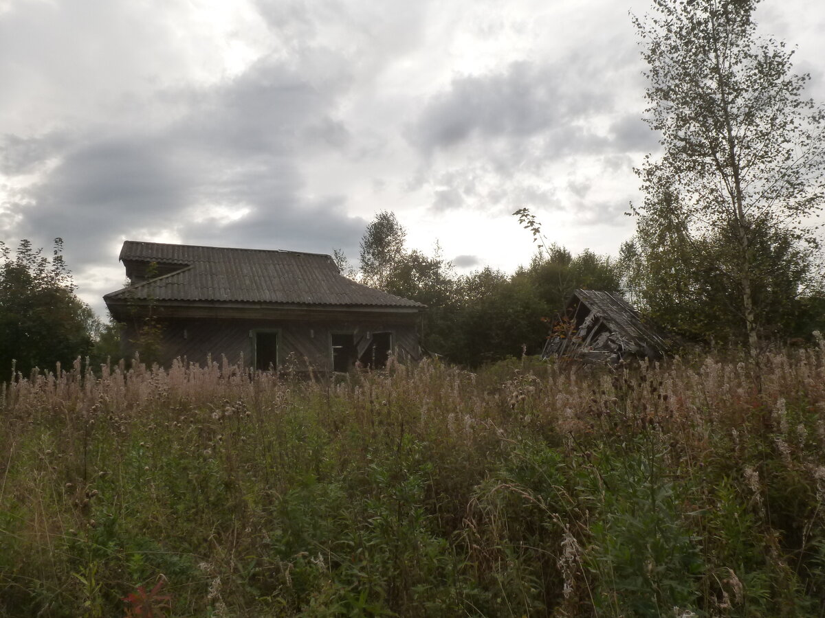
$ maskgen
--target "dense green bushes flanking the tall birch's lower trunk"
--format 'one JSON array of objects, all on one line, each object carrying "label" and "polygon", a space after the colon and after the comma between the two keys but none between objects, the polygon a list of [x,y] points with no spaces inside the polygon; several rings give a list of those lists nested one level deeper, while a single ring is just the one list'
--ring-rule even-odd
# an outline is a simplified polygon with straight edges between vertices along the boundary
[{"label": "dense green bushes flanking the tall birch's lower trunk", "polygon": [[[629,296],[685,339],[746,344],[733,231],[694,237],[687,230],[674,196],[639,217],[636,235],[620,250]],[[751,297],[760,337],[810,337],[825,326],[812,252],[780,228],[754,232]]]}]

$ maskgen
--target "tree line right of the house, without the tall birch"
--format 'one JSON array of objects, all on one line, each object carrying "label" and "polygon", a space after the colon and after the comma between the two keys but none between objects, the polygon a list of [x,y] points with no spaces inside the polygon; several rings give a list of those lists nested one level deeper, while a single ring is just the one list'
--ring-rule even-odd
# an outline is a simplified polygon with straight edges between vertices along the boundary
[{"label": "tree line right of the house, without the tall birch", "polygon": [[[456,274],[439,250],[410,250],[406,232],[389,211],[378,213],[361,239],[361,268],[340,251],[339,269],[353,279],[427,305],[422,344],[468,367],[541,352],[552,322],[577,288],[620,293],[686,345],[747,347],[741,291],[720,272],[724,237],[687,241],[639,217],[620,255],[573,254],[546,244],[526,209],[517,213],[538,241],[530,264],[512,274],[489,267]],[[757,236],[753,260],[755,328],[761,347],[812,340],[825,328],[822,268],[787,235]]]}]

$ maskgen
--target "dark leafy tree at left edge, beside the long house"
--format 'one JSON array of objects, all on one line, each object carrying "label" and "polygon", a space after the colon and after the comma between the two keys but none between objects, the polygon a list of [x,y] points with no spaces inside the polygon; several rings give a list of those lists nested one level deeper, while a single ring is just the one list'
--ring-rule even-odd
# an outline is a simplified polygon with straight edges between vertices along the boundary
[{"label": "dark leafy tree at left edge, beside the long house", "polygon": [[12,377],[12,364],[26,376],[35,367],[71,367],[92,349],[97,320],[74,295],[62,250],[59,238],[51,257],[24,240],[12,256],[0,241],[0,382]]}]

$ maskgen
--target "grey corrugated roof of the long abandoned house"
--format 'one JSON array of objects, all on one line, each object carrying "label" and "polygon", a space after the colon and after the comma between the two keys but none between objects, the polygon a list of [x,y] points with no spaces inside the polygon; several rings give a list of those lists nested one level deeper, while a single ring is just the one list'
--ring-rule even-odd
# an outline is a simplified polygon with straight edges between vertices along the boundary
[{"label": "grey corrugated roof of the long abandoned house", "polygon": [[181,270],[106,294],[106,302],[271,302],[346,307],[424,307],[343,277],[329,255],[285,250],[125,241],[121,261]]}]

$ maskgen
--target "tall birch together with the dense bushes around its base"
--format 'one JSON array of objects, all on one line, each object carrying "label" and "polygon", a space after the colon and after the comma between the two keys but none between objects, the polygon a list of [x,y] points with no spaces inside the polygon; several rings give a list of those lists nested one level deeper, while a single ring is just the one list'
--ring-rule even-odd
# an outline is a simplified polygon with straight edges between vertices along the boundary
[{"label": "tall birch together with the dense bushes around its base", "polygon": [[[815,244],[806,218],[825,199],[825,110],[802,97],[809,76],[791,73],[785,43],[757,35],[757,4],[662,0],[634,18],[646,120],[663,152],[639,170],[643,216],[636,250],[625,248],[626,259],[647,260],[631,283],[653,311],[693,335],[721,330],[751,353],[792,321],[810,274],[804,241]],[[680,301],[658,306],[670,292]],[[682,298],[691,307],[680,309]]]}]

